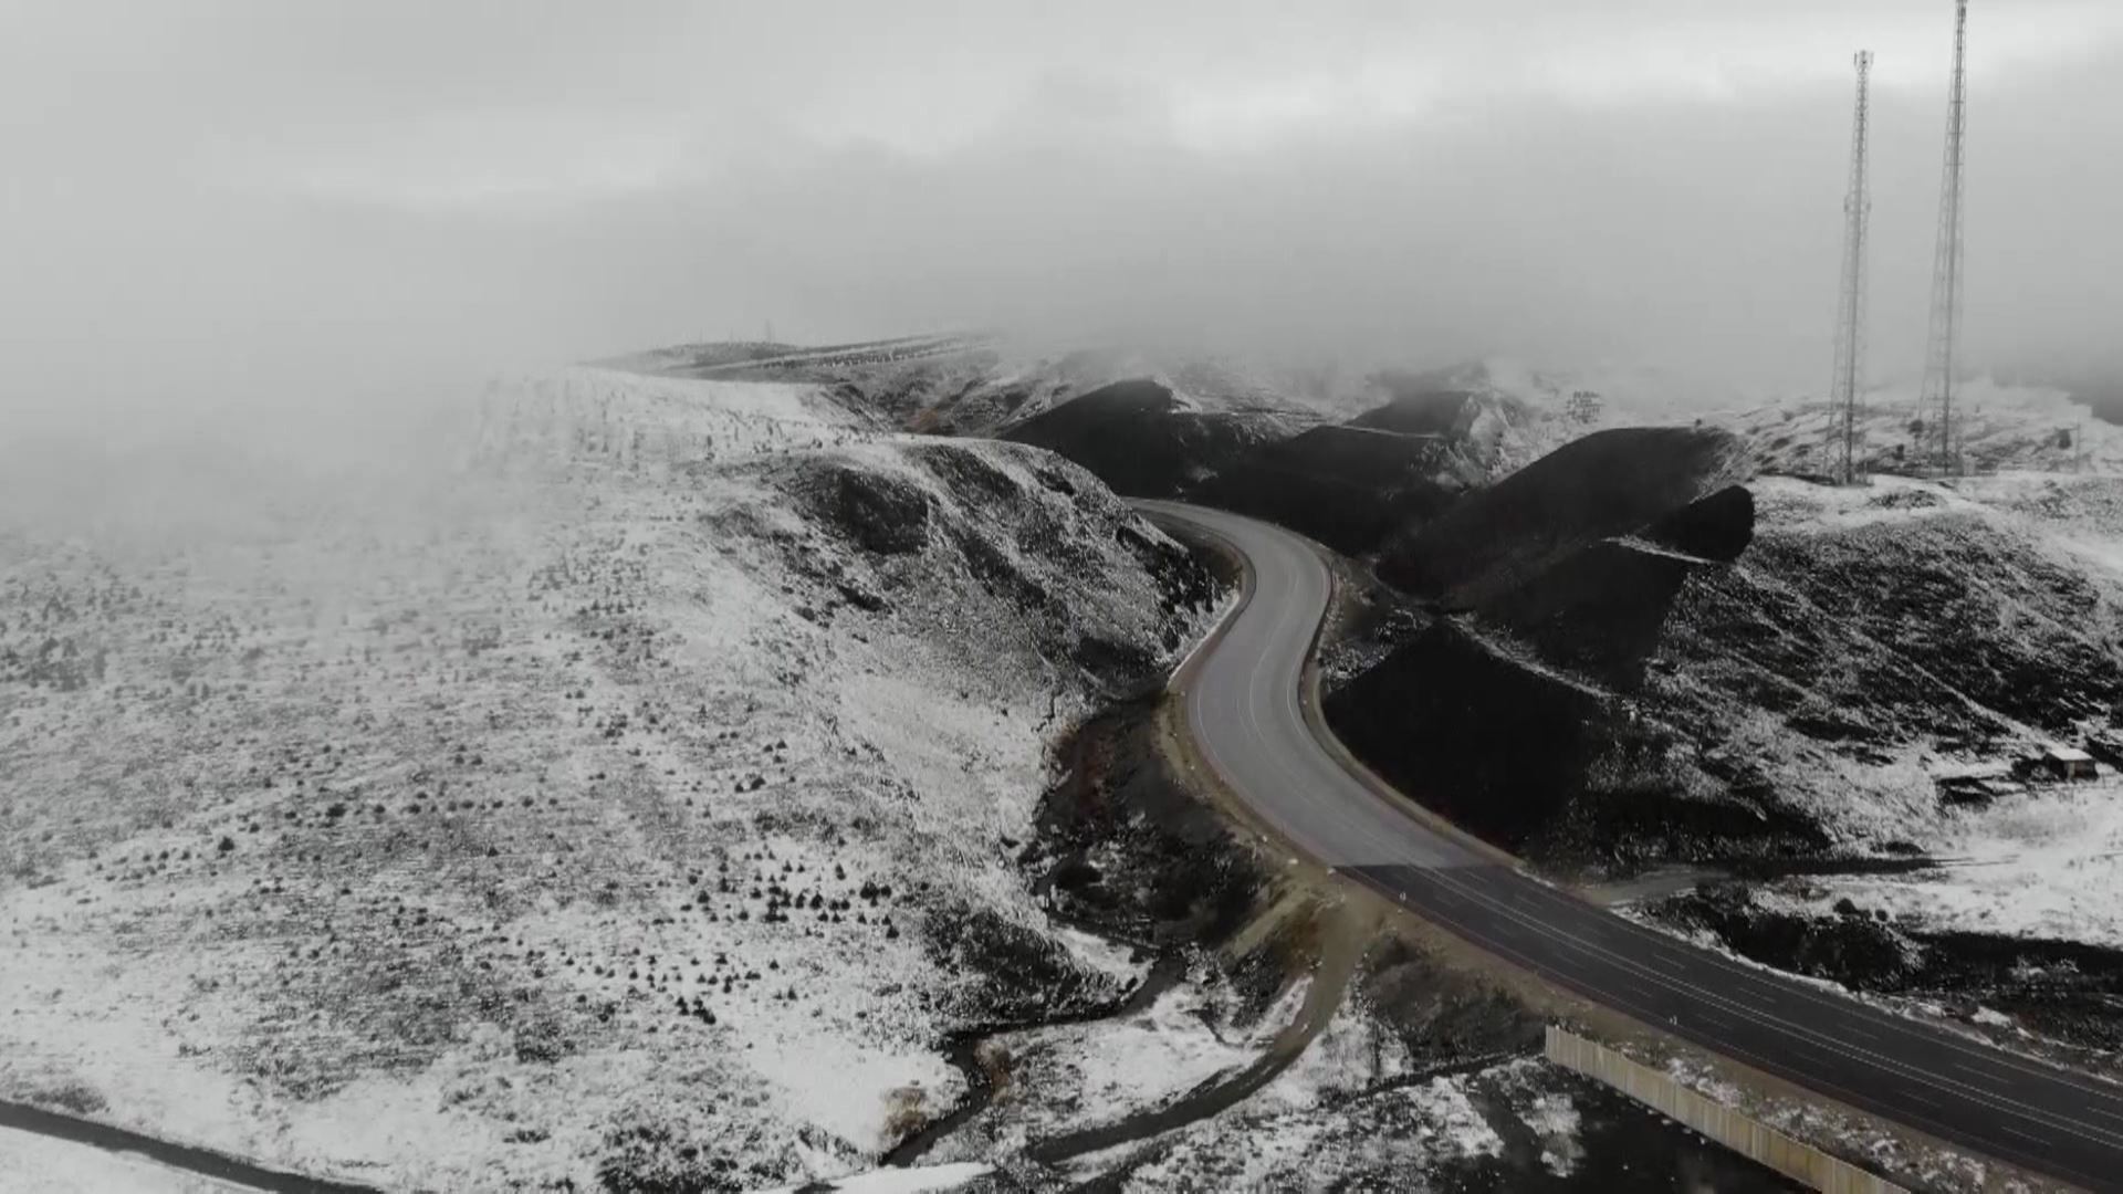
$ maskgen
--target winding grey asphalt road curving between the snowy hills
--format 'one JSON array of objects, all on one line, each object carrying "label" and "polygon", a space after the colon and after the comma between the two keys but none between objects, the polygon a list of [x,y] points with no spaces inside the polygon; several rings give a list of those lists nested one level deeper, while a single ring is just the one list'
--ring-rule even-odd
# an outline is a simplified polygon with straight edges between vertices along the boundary
[{"label": "winding grey asphalt road curving between the snowy hills", "polygon": [[1696,950],[1374,790],[1314,737],[1299,705],[1333,593],[1312,544],[1219,510],[1140,506],[1250,563],[1244,605],[1180,673],[1187,720],[1225,784],[1312,858],[1556,988],[1709,1052],[2025,1171],[2123,1190],[2123,1088]]}]

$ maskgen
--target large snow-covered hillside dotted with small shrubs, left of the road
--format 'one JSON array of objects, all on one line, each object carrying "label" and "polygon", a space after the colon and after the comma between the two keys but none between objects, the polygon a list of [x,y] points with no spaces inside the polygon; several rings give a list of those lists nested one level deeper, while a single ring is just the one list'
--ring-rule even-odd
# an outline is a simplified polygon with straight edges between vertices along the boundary
[{"label": "large snow-covered hillside dotted with small shrubs, left of the road", "polygon": [[1163,535],[802,387],[567,370],[476,429],[0,529],[0,1092],[393,1188],[800,1183],[957,1096],[979,941],[1125,986],[1011,858],[1100,669],[1204,616]]}]

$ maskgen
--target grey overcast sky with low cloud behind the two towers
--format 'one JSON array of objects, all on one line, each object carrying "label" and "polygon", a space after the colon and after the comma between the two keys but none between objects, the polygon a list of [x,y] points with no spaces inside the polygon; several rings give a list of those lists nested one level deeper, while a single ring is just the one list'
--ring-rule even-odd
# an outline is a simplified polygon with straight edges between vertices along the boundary
[{"label": "grey overcast sky with low cloud behind the two towers", "polygon": [[[1972,357],[2083,363],[2123,4],[1970,30]],[[769,321],[1817,385],[1858,47],[1892,374],[1949,40],[1949,0],[0,0],[0,399],[342,402]]]}]

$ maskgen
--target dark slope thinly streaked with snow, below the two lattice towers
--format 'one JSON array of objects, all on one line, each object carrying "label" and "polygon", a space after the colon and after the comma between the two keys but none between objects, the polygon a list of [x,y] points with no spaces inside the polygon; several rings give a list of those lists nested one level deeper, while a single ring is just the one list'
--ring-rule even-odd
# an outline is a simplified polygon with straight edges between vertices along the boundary
[{"label": "dark slope thinly streaked with snow, below the two lattice towers", "polygon": [[2119,633],[2091,574],[1987,516],[1792,521],[1684,589],[1654,695],[1709,724],[1766,710],[1847,754],[1930,739],[1983,756],[2010,722],[2076,737],[2104,718]]}]

